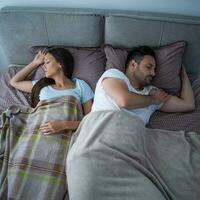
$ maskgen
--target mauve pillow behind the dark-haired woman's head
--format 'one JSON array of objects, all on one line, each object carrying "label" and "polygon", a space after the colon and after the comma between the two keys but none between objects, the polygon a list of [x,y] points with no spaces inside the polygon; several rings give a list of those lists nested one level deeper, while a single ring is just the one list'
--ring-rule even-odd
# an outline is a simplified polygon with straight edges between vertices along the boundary
[{"label": "mauve pillow behind the dark-haired woman's head", "polygon": [[[106,65],[106,56],[101,48],[83,48],[55,46],[68,49],[74,57],[73,77],[85,80],[95,90],[96,83],[103,74]],[[47,46],[33,46],[31,52],[36,54]]]}]

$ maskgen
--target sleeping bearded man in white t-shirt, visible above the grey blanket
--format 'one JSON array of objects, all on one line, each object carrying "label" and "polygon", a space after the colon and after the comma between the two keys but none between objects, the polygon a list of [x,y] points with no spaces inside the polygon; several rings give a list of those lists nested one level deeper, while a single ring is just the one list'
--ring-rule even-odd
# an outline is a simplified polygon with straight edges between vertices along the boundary
[{"label": "sleeping bearded man in white t-shirt, visible above the grey blanket", "polygon": [[110,69],[99,79],[92,111],[124,109],[140,117],[146,125],[158,109],[164,112],[194,110],[193,91],[184,67],[180,97],[150,85],[155,69],[154,51],[148,46],[134,48],[127,56],[125,73]]}]

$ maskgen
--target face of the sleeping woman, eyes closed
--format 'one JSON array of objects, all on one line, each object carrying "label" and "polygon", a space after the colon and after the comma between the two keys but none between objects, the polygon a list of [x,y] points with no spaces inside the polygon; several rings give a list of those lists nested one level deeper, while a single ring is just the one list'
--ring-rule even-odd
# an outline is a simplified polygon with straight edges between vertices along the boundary
[{"label": "face of the sleeping woman, eyes closed", "polygon": [[44,58],[43,70],[47,78],[53,78],[60,73],[62,67],[50,53],[47,53]]}]

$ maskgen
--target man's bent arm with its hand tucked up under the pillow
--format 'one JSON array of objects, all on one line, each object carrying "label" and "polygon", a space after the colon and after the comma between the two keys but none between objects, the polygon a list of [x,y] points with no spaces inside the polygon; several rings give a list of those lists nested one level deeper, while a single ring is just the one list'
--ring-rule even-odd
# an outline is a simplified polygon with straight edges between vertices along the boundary
[{"label": "man's bent arm with its hand tucked up under the pillow", "polygon": [[160,108],[164,112],[188,112],[195,109],[194,95],[185,68],[181,72],[182,89],[180,97],[170,95],[168,101]]}]

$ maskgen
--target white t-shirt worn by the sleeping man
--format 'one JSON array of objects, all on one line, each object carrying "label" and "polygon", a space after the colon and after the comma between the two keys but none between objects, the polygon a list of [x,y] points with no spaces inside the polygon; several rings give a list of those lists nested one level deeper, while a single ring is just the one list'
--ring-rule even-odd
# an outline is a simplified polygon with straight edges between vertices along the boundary
[{"label": "white t-shirt worn by the sleeping man", "polygon": [[[124,80],[124,82],[126,83],[128,87],[128,90],[136,94],[148,95],[150,90],[152,88],[155,88],[154,86],[146,86],[143,88],[143,90],[137,90],[131,85],[129,79],[124,73],[122,73],[121,71],[117,69],[109,69],[106,72],[104,72],[104,74],[101,76],[101,78],[97,82],[95,95],[94,95],[94,102],[92,106],[92,112],[100,111],[100,110],[121,110],[122,109],[116,104],[116,102],[110,96],[106,94],[105,90],[103,89],[102,80],[106,77],[113,77],[113,78],[119,78],[119,79]],[[140,119],[144,121],[145,124],[147,124],[153,112],[155,112],[160,107],[161,105],[152,104],[144,108],[124,109],[124,110],[126,110],[127,112],[130,112],[133,115],[137,115],[138,117],[140,117]]]}]

